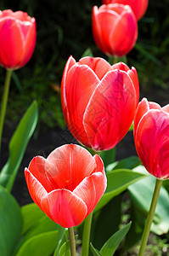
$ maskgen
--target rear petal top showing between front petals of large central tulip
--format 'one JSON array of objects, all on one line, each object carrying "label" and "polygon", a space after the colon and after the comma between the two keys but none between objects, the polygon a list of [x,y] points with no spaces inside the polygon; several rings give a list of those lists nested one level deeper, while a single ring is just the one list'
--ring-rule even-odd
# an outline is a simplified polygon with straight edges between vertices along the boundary
[{"label": "rear petal top showing between front petals of large central tulip", "polygon": [[90,67],[100,80],[111,70],[110,63],[102,58],[84,57],[79,64]]}]

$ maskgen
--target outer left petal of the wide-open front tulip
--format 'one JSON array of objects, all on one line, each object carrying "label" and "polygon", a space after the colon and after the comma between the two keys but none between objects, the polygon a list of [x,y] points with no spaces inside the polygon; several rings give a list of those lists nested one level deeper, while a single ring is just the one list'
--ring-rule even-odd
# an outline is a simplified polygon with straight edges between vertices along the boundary
[{"label": "outer left petal of the wide-open front tulip", "polygon": [[43,188],[42,183],[27,168],[25,168],[25,180],[32,200],[42,209],[42,197],[48,194],[46,189]]}]

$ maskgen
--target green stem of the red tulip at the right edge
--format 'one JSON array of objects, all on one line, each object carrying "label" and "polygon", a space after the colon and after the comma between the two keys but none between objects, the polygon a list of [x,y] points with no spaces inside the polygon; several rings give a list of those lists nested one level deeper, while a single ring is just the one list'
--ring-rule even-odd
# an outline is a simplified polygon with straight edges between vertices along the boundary
[{"label": "green stem of the red tulip at the right edge", "polygon": [[162,180],[156,179],[155,190],[154,190],[153,198],[151,201],[151,206],[149,208],[149,214],[148,214],[148,217],[147,217],[147,220],[145,223],[144,234],[142,236],[142,241],[141,241],[141,245],[139,248],[138,256],[144,255],[145,247],[147,245],[147,241],[149,238],[150,227],[153,222],[154,215],[155,215],[155,207],[156,207],[156,204],[157,204],[157,201],[159,198],[162,182],[163,182]]}]

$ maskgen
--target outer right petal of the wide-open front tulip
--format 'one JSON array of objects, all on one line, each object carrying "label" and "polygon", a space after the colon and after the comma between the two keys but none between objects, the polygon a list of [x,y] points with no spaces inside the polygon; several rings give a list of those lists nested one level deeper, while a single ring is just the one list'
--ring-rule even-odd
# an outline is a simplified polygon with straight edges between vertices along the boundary
[{"label": "outer right petal of the wide-open front tulip", "polygon": [[93,211],[106,189],[106,178],[102,172],[95,172],[85,177],[73,194],[77,195],[87,205],[87,215]]}]

